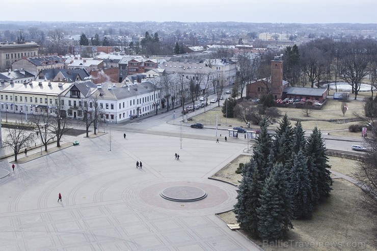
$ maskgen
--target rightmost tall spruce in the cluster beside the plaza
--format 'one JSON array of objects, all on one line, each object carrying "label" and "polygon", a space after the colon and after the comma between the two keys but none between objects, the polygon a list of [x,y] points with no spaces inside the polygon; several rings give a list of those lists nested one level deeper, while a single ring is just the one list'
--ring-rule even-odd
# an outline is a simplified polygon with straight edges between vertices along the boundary
[{"label": "rightmost tall spruce in the cluster beside the plaza", "polygon": [[306,147],[306,156],[310,156],[313,162],[313,168],[310,168],[310,176],[316,177],[316,188],[318,189],[319,199],[328,197],[332,190],[332,180],[330,177],[330,165],[327,163],[329,158],[326,155],[326,148],[320,130],[317,127],[310,134]]}]

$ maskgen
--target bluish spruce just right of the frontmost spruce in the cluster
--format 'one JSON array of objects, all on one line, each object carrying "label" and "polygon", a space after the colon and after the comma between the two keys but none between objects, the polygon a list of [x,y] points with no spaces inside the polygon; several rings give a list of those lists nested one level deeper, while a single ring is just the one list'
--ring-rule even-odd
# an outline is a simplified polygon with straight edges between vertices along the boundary
[{"label": "bluish spruce just right of the frontmost spruce in the cluster", "polygon": [[300,150],[292,153],[293,165],[290,174],[289,196],[291,198],[292,217],[294,219],[310,216],[313,206],[311,202],[311,181],[307,160]]}]

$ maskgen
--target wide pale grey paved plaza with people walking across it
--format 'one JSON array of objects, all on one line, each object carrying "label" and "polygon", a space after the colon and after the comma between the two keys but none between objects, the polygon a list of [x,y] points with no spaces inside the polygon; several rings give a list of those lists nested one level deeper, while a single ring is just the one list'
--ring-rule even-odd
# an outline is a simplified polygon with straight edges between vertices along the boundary
[{"label": "wide pale grey paved plaza with people walking across it", "polygon": [[[13,159],[1,162],[10,175],[0,179],[0,250],[258,250],[216,216],[233,208],[236,187],[208,179],[246,144],[192,134],[181,149],[177,136],[124,138],[121,127],[112,131],[111,146],[109,133],[83,136],[78,146],[16,164],[14,173]],[[206,196],[161,197],[179,197],[174,187]]]}]

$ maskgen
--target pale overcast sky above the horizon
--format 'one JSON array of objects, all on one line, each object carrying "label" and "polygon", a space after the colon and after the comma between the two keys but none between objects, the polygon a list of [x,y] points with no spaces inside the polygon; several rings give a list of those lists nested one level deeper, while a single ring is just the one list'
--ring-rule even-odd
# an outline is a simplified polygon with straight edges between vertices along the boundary
[{"label": "pale overcast sky above the horizon", "polygon": [[1,21],[377,23],[377,0],[2,0],[1,2]]}]

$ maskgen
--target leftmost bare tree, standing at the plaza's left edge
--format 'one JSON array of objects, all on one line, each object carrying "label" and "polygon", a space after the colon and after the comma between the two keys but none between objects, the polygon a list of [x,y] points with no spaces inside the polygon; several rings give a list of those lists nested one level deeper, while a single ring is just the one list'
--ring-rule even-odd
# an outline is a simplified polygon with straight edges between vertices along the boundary
[{"label": "leftmost bare tree, standing at the plaza's left edge", "polygon": [[29,124],[25,124],[21,121],[16,122],[13,127],[7,127],[7,136],[3,141],[4,147],[10,147],[14,153],[14,161],[17,161],[17,155],[22,148],[28,148],[32,144],[35,133],[26,130],[30,127]]}]

